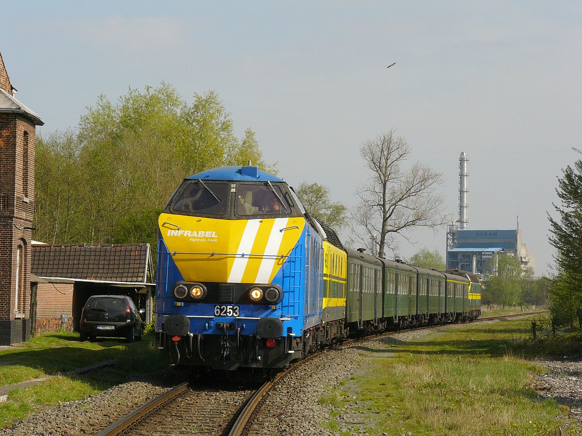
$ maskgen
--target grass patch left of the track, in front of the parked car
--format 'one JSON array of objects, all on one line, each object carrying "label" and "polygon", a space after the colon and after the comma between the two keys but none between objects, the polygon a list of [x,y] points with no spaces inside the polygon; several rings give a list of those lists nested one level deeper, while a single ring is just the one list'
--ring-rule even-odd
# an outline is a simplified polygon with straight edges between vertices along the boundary
[{"label": "grass patch left of the track, in front of the parked car", "polygon": [[[61,331],[32,338],[22,347],[0,352],[0,386],[53,376],[23,389],[11,389],[0,403],[0,428],[29,413],[58,403],[86,398],[127,380],[128,373],[149,373],[167,366],[155,349],[153,335],[128,344],[123,339],[80,342],[79,334]],[[87,374],[66,371],[115,359],[113,366]]]}]

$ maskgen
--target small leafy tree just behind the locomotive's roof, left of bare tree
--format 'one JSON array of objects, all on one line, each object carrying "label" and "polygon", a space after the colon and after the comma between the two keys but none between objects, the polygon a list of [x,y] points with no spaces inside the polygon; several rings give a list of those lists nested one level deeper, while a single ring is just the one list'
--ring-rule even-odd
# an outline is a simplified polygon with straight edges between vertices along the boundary
[{"label": "small leafy tree just behind the locomotive's roof, left of bare tree", "polygon": [[347,224],[347,208],[340,202],[332,202],[329,188],[318,183],[301,183],[295,191],[303,207],[322,223],[339,230]]}]

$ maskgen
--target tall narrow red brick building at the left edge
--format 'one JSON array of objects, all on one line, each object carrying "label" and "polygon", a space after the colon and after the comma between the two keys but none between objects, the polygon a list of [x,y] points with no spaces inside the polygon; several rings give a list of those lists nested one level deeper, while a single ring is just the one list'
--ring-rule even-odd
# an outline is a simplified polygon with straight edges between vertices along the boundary
[{"label": "tall narrow red brick building at the left edge", "polygon": [[14,91],[0,53],[0,345],[30,337],[34,145],[44,124]]}]

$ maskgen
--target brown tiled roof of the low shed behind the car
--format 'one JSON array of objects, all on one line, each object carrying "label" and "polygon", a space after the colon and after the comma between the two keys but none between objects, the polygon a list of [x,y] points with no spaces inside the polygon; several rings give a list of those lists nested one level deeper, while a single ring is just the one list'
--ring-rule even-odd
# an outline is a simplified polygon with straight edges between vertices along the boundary
[{"label": "brown tiled roof of the low shed behind the car", "polygon": [[147,283],[150,244],[32,245],[38,277]]}]

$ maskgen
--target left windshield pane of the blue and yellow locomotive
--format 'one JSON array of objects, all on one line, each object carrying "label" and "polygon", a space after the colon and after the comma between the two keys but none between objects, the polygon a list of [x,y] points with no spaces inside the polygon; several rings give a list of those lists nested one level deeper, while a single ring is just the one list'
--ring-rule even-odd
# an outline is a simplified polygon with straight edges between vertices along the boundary
[{"label": "left windshield pane of the blue and yellow locomotive", "polygon": [[176,193],[172,209],[175,212],[196,212],[208,215],[226,214],[228,184],[189,181]]}]

